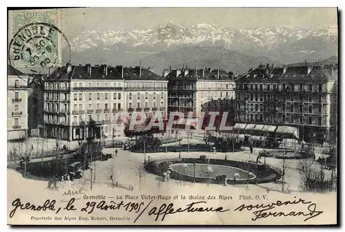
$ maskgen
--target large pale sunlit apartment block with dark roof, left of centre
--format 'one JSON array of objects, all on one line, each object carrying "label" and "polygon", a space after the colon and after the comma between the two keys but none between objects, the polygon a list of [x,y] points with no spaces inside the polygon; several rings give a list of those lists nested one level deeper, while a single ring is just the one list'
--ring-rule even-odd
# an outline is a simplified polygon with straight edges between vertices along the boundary
[{"label": "large pale sunlit apartment block with dark roof, left of centre", "polygon": [[63,140],[88,138],[91,120],[96,138],[121,136],[121,115],[167,110],[167,81],[142,67],[66,65],[46,78],[44,92],[46,136]]}]

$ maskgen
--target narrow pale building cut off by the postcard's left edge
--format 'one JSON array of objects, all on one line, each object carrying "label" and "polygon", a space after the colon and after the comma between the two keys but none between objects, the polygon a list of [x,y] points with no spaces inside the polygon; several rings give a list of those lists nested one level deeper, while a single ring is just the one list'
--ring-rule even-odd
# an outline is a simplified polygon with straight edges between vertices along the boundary
[{"label": "narrow pale building cut off by the postcard's left edge", "polygon": [[[20,78],[19,76],[20,75]],[[7,135],[8,140],[28,136],[28,76],[8,65]]]}]

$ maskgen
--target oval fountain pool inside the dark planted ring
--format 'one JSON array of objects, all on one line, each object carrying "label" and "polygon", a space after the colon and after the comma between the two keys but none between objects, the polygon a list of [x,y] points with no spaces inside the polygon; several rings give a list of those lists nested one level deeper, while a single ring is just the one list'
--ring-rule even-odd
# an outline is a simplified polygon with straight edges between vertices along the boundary
[{"label": "oval fountain pool inside the dark planted ring", "polygon": [[[170,169],[184,176],[194,176],[194,164],[177,163],[169,165]],[[256,176],[253,173],[224,165],[195,164],[195,177],[215,179],[217,176],[226,175],[226,178],[236,178],[236,180],[253,180]]]}]

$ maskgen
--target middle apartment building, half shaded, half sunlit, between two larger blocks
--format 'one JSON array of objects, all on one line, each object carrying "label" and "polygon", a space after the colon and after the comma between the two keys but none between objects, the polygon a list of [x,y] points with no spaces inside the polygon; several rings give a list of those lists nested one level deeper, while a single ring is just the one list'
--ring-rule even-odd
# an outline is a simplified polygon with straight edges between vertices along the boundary
[{"label": "middle apartment building, half shaded, half sunlit, between two larger blocks", "polygon": [[192,112],[194,118],[201,112],[228,112],[233,118],[233,72],[182,68],[164,70],[164,76],[168,80],[168,112],[182,112],[185,117]]}]

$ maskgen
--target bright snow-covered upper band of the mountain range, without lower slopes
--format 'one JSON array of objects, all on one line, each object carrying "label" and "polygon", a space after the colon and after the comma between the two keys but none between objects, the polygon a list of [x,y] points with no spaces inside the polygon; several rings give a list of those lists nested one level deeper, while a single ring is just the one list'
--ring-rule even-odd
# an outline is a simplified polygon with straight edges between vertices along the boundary
[{"label": "bright snow-covered upper band of the mountain range, without lower slopes", "polygon": [[[337,26],[317,28],[275,28],[233,29],[213,23],[199,23],[189,27],[172,22],[146,30],[107,30],[106,32],[86,31],[70,39],[73,52],[81,52],[95,47],[110,49],[112,45],[126,48],[146,48],[159,46],[171,48],[175,45],[221,45],[227,49],[279,50],[284,45],[305,39],[327,40],[337,43]],[[162,47],[163,46],[163,47]],[[158,50],[158,52],[160,52]],[[304,51],[313,52],[313,51]]]}]

